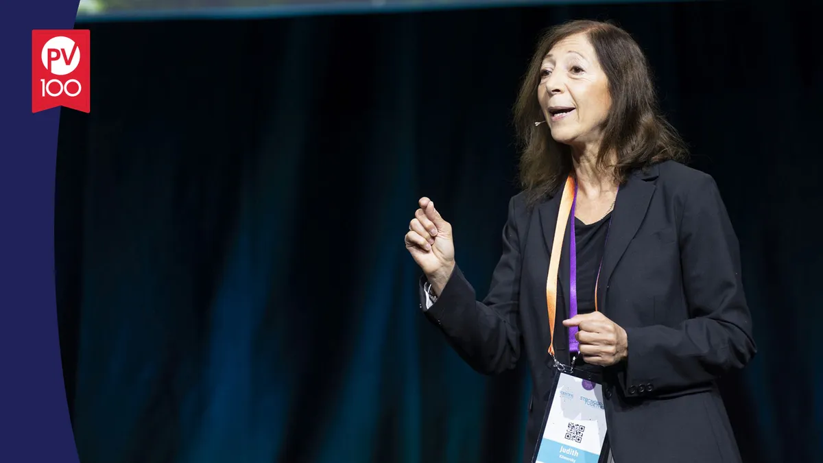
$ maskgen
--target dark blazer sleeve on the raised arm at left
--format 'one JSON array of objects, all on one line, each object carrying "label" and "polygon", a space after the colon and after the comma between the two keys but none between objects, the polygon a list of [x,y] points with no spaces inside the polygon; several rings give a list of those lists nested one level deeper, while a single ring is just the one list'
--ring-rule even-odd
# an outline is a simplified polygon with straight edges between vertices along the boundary
[{"label": "dark blazer sleeve on the raised arm at left", "polygon": [[[474,370],[486,375],[504,372],[520,357],[518,292],[520,288],[520,243],[515,213],[516,197],[509,201],[503,228],[503,252],[488,295],[477,301],[474,288],[455,266],[449,282],[425,316],[439,326],[454,350]],[[421,307],[427,295],[420,281]]]}]

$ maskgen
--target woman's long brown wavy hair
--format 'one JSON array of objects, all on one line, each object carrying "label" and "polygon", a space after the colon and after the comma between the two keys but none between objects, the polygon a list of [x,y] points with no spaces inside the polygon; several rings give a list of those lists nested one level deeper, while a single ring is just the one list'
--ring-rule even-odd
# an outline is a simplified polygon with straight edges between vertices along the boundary
[{"label": "woman's long brown wavy hair", "polygon": [[[584,33],[606,73],[611,109],[603,129],[597,166],[613,168],[622,184],[631,171],[659,161],[686,161],[688,150],[677,131],[660,114],[649,63],[637,42],[611,22],[570,21],[542,35],[523,77],[514,106],[514,124],[521,144],[520,185],[533,205],[555,192],[572,171],[570,147],[551,138],[548,124],[537,102],[543,58],[560,40]],[[616,153],[616,165],[608,165]]]}]

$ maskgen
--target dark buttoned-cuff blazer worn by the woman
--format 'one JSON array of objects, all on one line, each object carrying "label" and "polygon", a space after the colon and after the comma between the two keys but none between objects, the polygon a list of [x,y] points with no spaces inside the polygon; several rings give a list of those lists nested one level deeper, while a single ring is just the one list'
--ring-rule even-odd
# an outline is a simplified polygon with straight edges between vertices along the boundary
[{"label": "dark buttoned-cuff blazer worn by the woman", "polygon": [[[486,298],[477,302],[455,268],[425,311],[477,372],[513,368],[523,345],[533,380],[523,461],[531,461],[556,373],[547,361],[546,275],[559,208],[559,193],[531,210],[514,196]],[[420,297],[425,308],[422,285]],[[756,347],[737,237],[709,175],[666,161],[621,185],[597,301],[628,334],[628,358],[603,373],[616,463],[740,461],[715,380],[744,367]],[[568,303],[557,310],[555,348],[568,358]]]}]

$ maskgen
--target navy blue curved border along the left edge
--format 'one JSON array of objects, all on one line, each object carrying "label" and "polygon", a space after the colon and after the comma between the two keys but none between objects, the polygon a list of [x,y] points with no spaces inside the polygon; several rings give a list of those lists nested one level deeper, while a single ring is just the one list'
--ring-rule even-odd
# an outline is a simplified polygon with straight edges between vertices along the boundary
[{"label": "navy blue curved border along the left edge", "polygon": [[30,82],[31,30],[72,29],[77,4],[0,2],[0,461],[9,463],[79,461],[54,289],[60,109],[32,114]]}]

